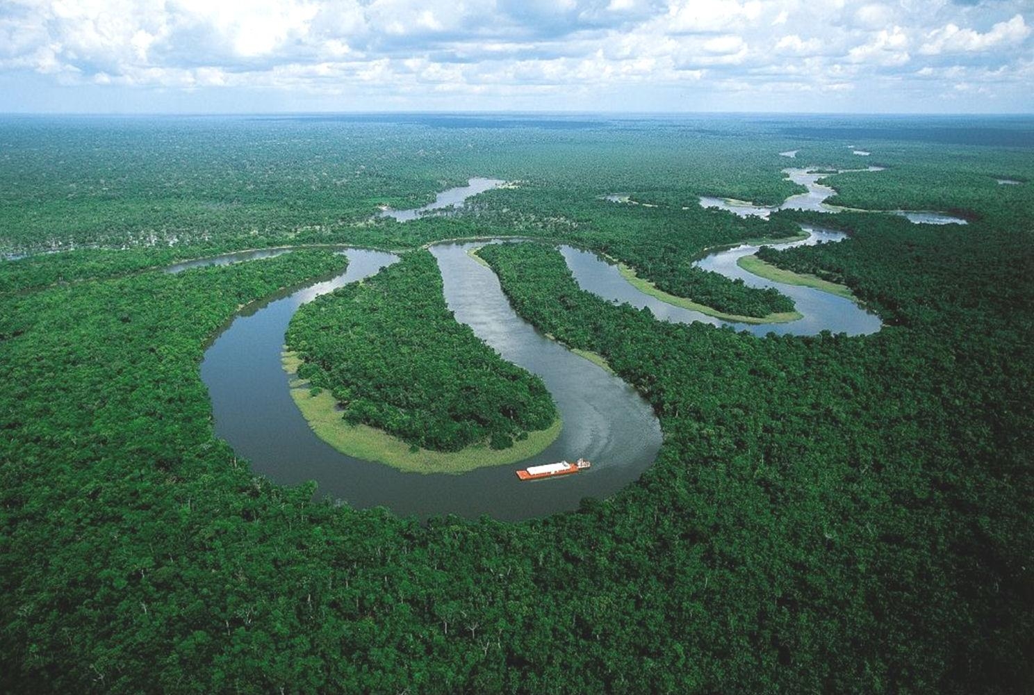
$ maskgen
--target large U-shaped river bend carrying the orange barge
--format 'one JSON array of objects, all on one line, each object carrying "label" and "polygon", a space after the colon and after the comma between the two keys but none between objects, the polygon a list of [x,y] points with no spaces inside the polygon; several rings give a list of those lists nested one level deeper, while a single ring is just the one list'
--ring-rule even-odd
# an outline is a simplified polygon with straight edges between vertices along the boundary
[{"label": "large U-shaped river bend carrying the orange barge", "polygon": [[[215,433],[281,484],[315,480],[320,492],[357,508],[385,506],[420,517],[488,514],[518,520],[575,509],[585,496],[616,492],[652,463],[661,427],[649,404],[620,379],[540,334],[520,319],[494,273],[466,251],[479,244],[431,247],[445,296],[457,321],[504,359],[539,374],[556,401],[564,427],[538,456],[463,475],[402,473],[341,454],[309,428],[291,398],[280,363],[287,324],[302,304],[394,263],[382,251],[346,249],[347,270],[333,278],[247,307],[213,341],[202,363]],[[235,254],[235,260],[245,260]],[[211,260],[210,260],[211,262]],[[520,482],[514,472],[583,456],[592,467],[576,476]]]}]

